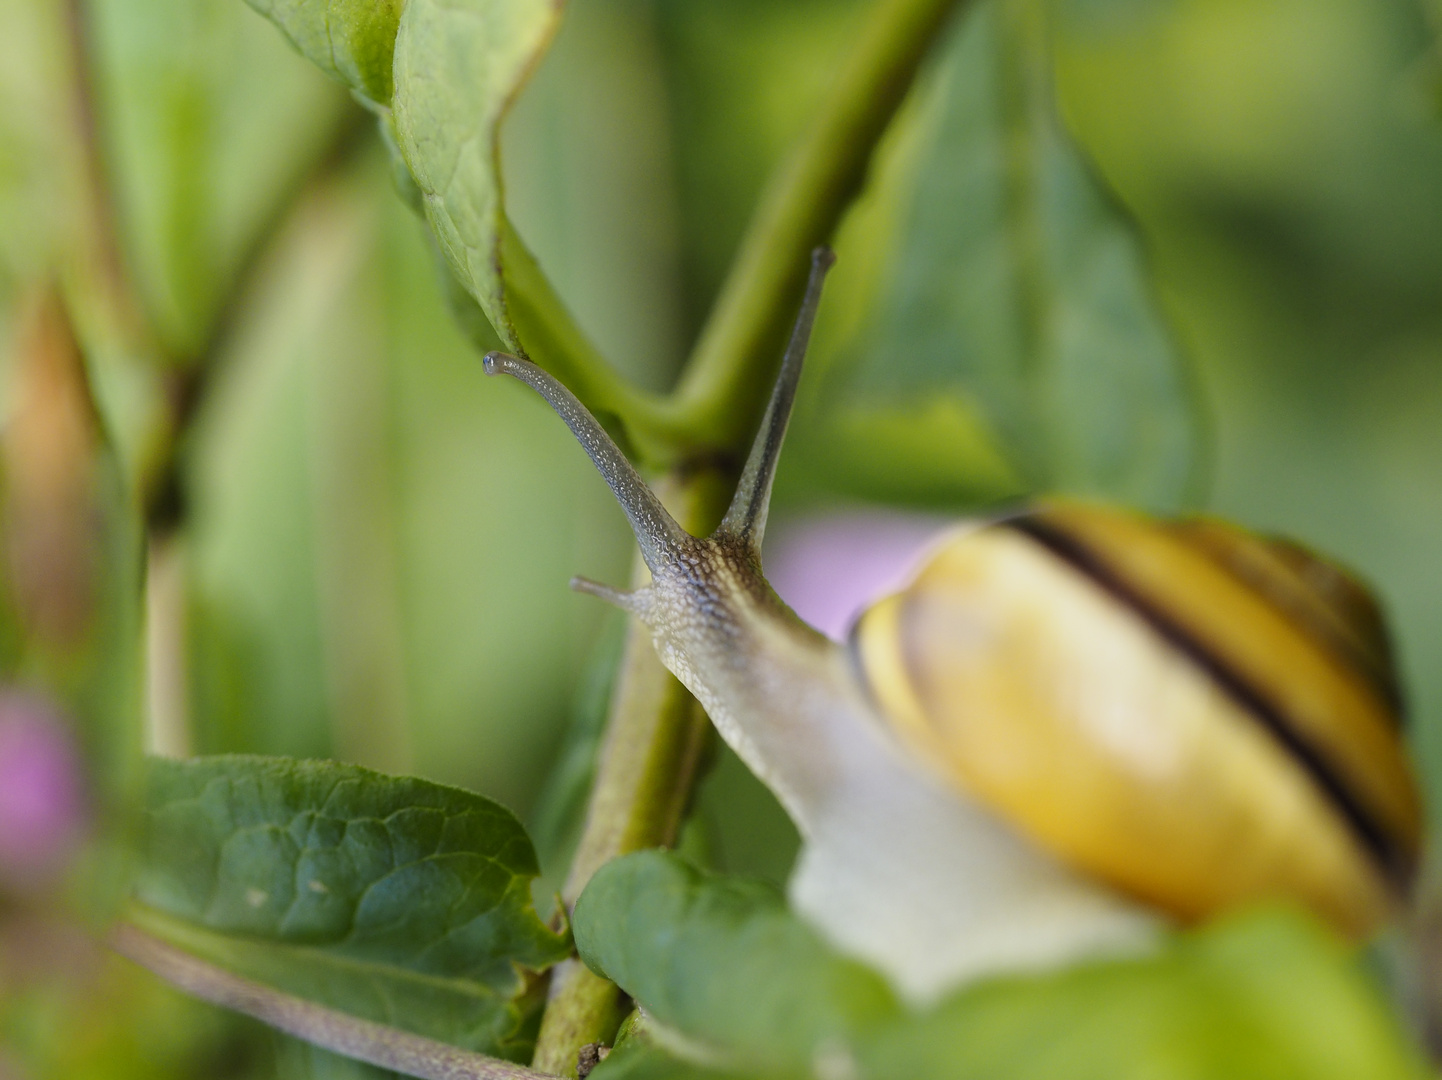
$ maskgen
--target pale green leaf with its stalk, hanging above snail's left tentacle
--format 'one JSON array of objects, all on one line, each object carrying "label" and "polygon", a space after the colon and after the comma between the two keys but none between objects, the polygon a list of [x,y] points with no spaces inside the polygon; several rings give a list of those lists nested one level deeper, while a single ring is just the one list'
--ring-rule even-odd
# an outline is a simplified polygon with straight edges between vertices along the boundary
[{"label": "pale green leaf with its stalk, hanging above snail's left tentacle", "polygon": [[[642,397],[617,378],[561,303],[506,213],[500,127],[555,35],[552,0],[257,0],[323,69],[381,112],[386,144],[451,273],[505,348],[529,355],[593,411]],[[479,329],[479,327],[477,327]],[[479,335],[485,348],[493,340]]]}]

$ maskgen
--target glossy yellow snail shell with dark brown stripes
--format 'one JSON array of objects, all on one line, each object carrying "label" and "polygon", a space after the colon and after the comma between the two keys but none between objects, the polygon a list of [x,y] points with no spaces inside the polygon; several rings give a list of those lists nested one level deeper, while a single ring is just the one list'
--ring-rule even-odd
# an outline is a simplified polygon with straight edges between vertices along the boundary
[{"label": "glossy yellow snail shell with dark brown stripes", "polygon": [[1053,503],[940,545],[852,652],[952,783],[1181,919],[1289,898],[1363,934],[1410,880],[1376,606],[1295,545]]}]

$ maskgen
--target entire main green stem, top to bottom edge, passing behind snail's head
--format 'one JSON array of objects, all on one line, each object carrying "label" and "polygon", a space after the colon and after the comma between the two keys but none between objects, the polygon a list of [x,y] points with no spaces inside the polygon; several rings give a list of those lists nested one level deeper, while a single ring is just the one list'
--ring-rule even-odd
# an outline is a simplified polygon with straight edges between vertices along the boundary
[{"label": "entire main green stem, top to bottom edge, passing behind snail's head", "polygon": [[[675,394],[649,398],[623,392],[610,379],[593,385],[581,373],[572,389],[583,401],[581,391],[590,389],[588,405],[617,411],[623,404],[627,434],[643,460],[672,469],[698,456],[740,460],[780,363],[808,255],[831,238],[861,189],[875,144],[957,3],[880,0],[815,125],[763,196]],[[578,366],[598,362],[587,356]],[[707,535],[734,480],[714,470],[672,477],[662,497],[686,529]],[[705,737],[704,712],[662,666],[649,632],[633,624],[585,829],[564,890],[568,904],[609,859],[675,838]],[[619,1021],[620,991],[613,983],[578,960],[558,966],[534,1067],[574,1076],[580,1048],[609,1041]]]}]

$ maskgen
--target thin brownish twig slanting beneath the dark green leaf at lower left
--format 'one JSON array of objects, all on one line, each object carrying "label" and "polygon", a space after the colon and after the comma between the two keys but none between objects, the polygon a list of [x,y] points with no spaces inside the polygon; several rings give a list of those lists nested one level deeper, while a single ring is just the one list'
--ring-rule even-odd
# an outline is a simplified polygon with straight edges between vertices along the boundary
[{"label": "thin brownish twig slanting beneath the dark green leaf at lower left", "polygon": [[281,993],[199,960],[128,923],[115,927],[110,944],[186,993],[366,1064],[421,1080],[548,1080],[547,1073],[499,1057],[460,1050]]}]

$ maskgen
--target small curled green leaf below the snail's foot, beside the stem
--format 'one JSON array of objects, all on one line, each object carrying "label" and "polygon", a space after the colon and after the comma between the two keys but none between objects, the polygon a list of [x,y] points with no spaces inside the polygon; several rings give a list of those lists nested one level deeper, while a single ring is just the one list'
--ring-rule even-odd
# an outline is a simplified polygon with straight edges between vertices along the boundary
[{"label": "small curled green leaf below the snail's foot, beside the stem", "polygon": [[881,976],[833,953],[776,888],[665,852],[591,878],[575,943],[659,1024],[738,1064],[805,1066],[898,1015]]}]

